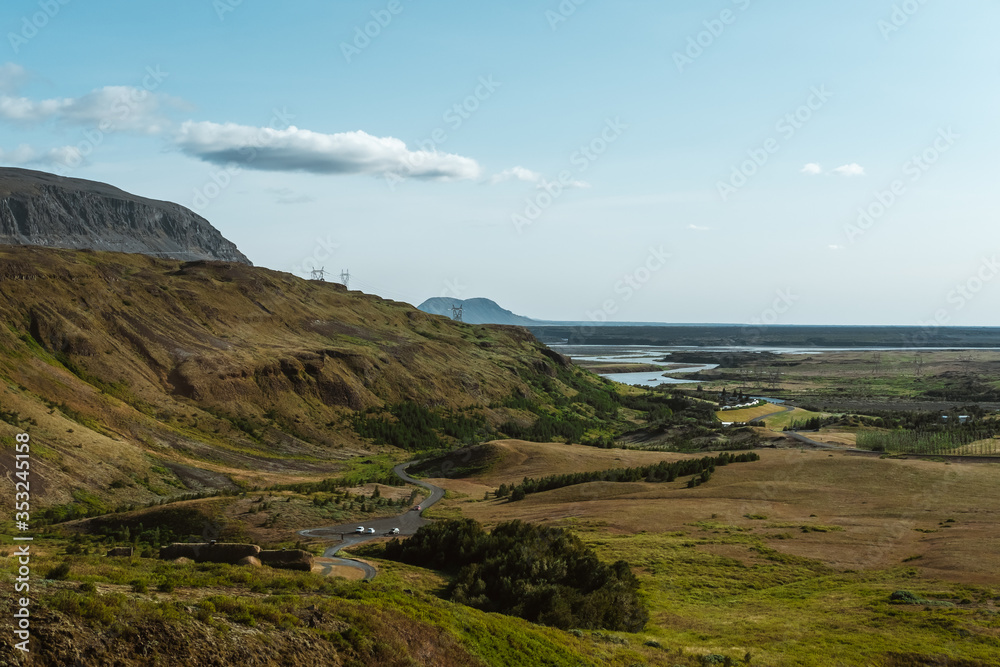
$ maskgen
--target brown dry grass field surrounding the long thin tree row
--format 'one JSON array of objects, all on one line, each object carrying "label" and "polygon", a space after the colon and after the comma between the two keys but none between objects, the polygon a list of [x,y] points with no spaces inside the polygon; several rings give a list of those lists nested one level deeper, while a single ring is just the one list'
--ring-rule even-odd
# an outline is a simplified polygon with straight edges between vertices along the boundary
[{"label": "brown dry grass field surrounding the long thin tree row", "polygon": [[[690,532],[700,521],[761,537],[779,552],[840,569],[910,565],[922,574],[1000,585],[1000,464],[878,459],[842,452],[762,450],[762,460],[719,468],[696,489],[595,482],[484,501],[500,483],[554,472],[628,467],[687,455],[504,441],[502,465],[470,479],[436,479],[452,491],[439,512],[496,524],[523,519],[603,527],[612,534]],[[502,470],[502,472],[501,472]],[[766,520],[746,515],[766,516]],[[948,522],[948,519],[954,519]],[[801,532],[801,526],[834,526]],[[927,531],[927,532],[920,532]],[[792,533],[793,539],[787,535]]]}]

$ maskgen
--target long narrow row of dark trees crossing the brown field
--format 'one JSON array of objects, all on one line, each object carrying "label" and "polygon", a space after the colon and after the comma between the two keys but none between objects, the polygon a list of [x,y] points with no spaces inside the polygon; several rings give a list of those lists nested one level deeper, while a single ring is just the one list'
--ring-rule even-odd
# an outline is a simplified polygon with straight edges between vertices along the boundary
[{"label": "long narrow row of dark trees crossing the brown field", "polygon": [[653,465],[638,466],[635,468],[612,468],[611,470],[598,470],[596,472],[578,472],[564,475],[549,475],[541,479],[525,477],[524,481],[517,485],[501,484],[496,490],[497,498],[510,498],[511,502],[522,500],[529,493],[539,493],[550,491],[564,486],[574,484],[586,484],[587,482],[673,482],[678,477],[686,475],[702,476],[701,482],[707,482],[711,473],[715,472],[717,466],[729,465],[730,463],[746,463],[748,461],[758,461],[760,456],[754,452],[743,454],[722,453],[718,456],[705,456],[700,459],[684,459],[681,461],[661,461]]}]

